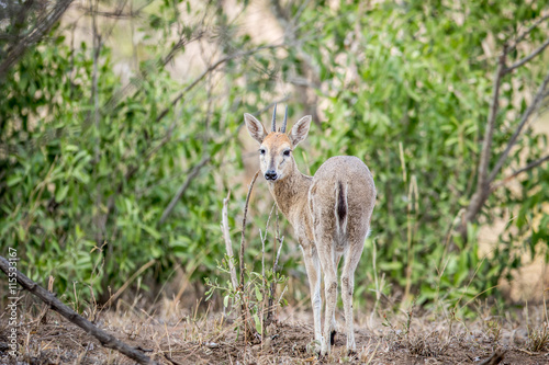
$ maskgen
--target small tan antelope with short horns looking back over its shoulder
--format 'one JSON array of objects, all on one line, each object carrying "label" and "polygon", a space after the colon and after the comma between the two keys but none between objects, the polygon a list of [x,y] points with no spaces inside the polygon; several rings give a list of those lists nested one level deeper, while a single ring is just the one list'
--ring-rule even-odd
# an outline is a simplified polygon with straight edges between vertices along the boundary
[{"label": "small tan antelope with short horns looking back over its shoulder", "polygon": [[[244,121],[251,138],[259,142],[261,172],[274,201],[293,226],[305,262],[314,317],[314,339],[321,344],[321,355],[330,352],[335,337],[337,304],[337,267],[341,270],[347,350],[356,351],[352,292],[365,239],[376,203],[376,186],[368,167],[357,157],[337,156],[326,160],[314,176],[300,172],[292,152],[304,140],[311,126],[311,115],[298,121],[285,133],[288,106],[282,127],[277,132],[277,105],[271,130],[251,114]],[[324,332],[321,329],[321,266],[324,272],[326,309]],[[329,339],[329,340],[328,340]]]}]

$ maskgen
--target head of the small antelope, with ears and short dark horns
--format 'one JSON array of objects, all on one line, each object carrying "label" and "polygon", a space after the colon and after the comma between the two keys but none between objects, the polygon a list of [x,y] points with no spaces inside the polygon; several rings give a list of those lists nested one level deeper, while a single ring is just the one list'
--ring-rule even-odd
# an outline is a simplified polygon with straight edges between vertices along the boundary
[{"label": "head of the small antelope, with ears and short dark horns", "polygon": [[251,114],[245,113],[244,121],[251,138],[259,142],[259,163],[265,179],[274,182],[287,178],[295,168],[292,152],[299,142],[307,136],[311,115],[306,115],[295,123],[289,135],[285,134],[288,106],[285,107],[284,122],[282,122],[279,132],[277,132],[276,104],[270,133],[267,133],[261,122]]}]

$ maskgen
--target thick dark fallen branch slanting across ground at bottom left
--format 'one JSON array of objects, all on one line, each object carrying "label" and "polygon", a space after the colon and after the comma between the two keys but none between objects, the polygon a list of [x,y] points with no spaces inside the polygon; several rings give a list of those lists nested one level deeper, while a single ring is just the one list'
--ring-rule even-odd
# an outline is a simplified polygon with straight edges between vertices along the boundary
[{"label": "thick dark fallen branch slanting across ground at bottom left", "polygon": [[[13,273],[13,266],[3,256],[0,256],[0,270],[4,272],[5,275]],[[148,356],[144,355],[134,347],[128,346],[124,342],[120,341],[112,334],[104,332],[103,330],[93,326],[89,320],[78,315],[76,311],[64,305],[59,299],[55,297],[54,294],[47,292],[42,286],[36,284],[26,277],[23,273],[15,270],[18,283],[27,292],[37,296],[42,301],[47,304],[53,310],[68,319],[70,322],[80,327],[87,333],[93,335],[104,347],[116,350],[117,352],[126,355],[127,357],[134,360],[139,364],[157,364],[152,361]]]}]

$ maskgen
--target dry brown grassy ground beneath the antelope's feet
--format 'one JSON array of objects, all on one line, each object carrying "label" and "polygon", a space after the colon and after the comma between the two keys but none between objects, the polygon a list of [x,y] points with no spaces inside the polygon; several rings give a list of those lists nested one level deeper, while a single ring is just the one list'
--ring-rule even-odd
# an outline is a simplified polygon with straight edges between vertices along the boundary
[{"label": "dry brown grassy ground beneath the antelope's feet", "polygon": [[[35,313],[25,315],[18,327],[18,358],[8,355],[8,321],[0,315],[0,364],[133,363],[102,347],[57,313],[48,311],[41,317],[40,306],[34,308]],[[549,363],[549,328],[542,306],[501,316],[479,309],[474,320],[451,319],[444,312],[413,312],[410,321],[405,312],[381,312],[382,318],[359,315],[357,354],[347,355],[345,337],[338,332],[334,352],[321,358],[312,350],[311,315],[291,308],[278,315],[262,344],[255,339],[245,345],[242,335],[237,339],[235,323],[221,313],[179,309],[147,312],[127,306],[126,310],[119,307],[96,313],[94,322],[161,364],[483,364],[494,352],[503,353],[500,364]],[[343,319],[339,321],[341,324]]]}]

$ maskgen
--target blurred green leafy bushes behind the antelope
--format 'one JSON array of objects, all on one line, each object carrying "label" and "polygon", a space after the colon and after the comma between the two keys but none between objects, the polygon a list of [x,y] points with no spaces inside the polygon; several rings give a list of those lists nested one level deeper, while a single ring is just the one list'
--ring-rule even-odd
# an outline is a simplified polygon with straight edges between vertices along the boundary
[{"label": "blurred green leafy bushes behind the antelope", "polygon": [[[378,204],[357,271],[357,300],[374,296],[374,275],[383,273],[392,284],[385,294],[408,286],[419,304],[441,293],[450,303],[467,301],[519,265],[524,249],[534,254],[547,246],[547,163],[528,171],[517,189],[501,187],[488,201],[483,224],[514,217],[489,255],[496,259],[479,253],[477,225],[469,227],[467,243],[453,235],[474,192],[497,54],[547,11],[546,1],[282,2],[281,14],[291,22],[284,39],[273,43],[240,26],[249,7],[238,5],[243,13],[236,16],[220,3],[144,7],[137,26],[145,37],[128,81],[115,71],[115,42],[103,43],[94,62],[93,43],[75,45],[66,24],[27,52],[0,83],[1,253],[18,248],[21,267],[33,280],[45,284],[53,275],[56,289],[69,297],[74,285],[82,295],[90,286],[104,300],[109,288],[119,288],[150,260],[142,276],[152,288],[178,266],[191,281],[219,275],[216,261],[225,253],[222,202],[231,190],[236,249],[245,166],[254,166],[255,156],[244,151],[251,145],[240,130],[243,113],[260,111],[268,121],[271,103],[288,96],[290,119],[296,121],[310,107],[300,95],[301,79],[309,80],[306,92],[325,116],[301,147],[306,159],[296,153],[302,171],[314,173],[332,156],[355,155],[374,173]],[[276,23],[273,14],[265,16]],[[534,31],[526,44],[541,44],[545,30]],[[182,46],[175,47],[178,39]],[[166,55],[191,53],[193,42],[215,48],[212,59],[225,61],[203,78],[203,70],[173,77]],[[519,48],[511,57],[526,54]],[[494,158],[547,72],[548,57],[545,52],[504,80]],[[527,130],[506,166],[522,167],[547,150],[547,137]],[[258,230],[270,212],[261,185],[260,179],[247,230],[246,260],[256,269]],[[290,242],[283,272],[304,283],[300,252],[283,227]]]}]

